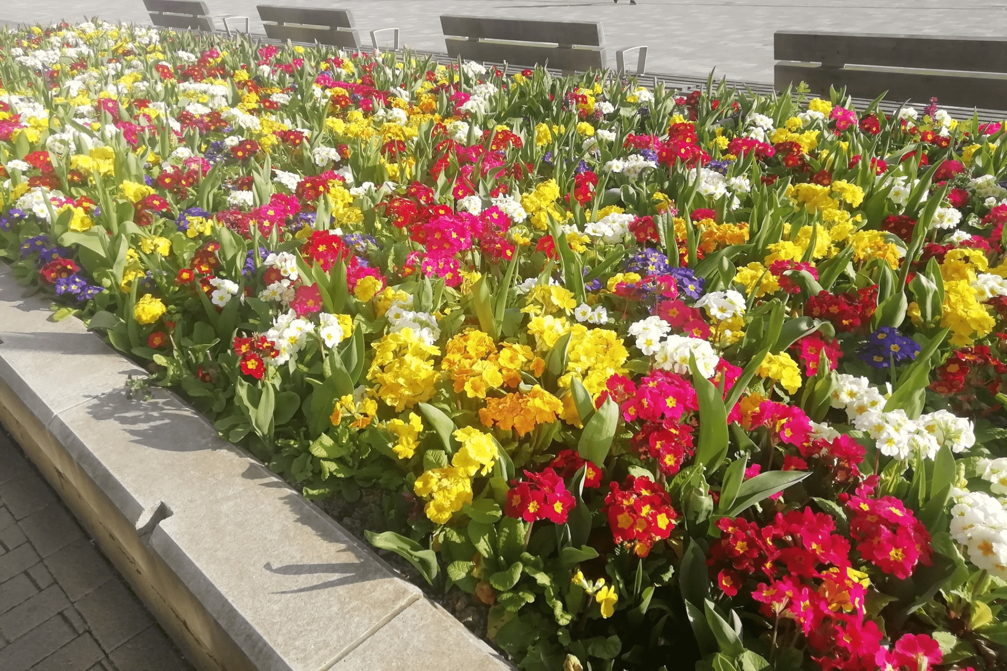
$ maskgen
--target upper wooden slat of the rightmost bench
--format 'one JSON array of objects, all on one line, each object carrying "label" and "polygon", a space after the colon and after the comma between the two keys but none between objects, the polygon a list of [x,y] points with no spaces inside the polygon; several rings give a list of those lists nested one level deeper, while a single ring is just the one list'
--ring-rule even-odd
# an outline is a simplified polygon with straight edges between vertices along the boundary
[{"label": "upper wooden slat of the rightmost bench", "polygon": [[779,30],[777,60],[1007,73],[1007,38]]}]

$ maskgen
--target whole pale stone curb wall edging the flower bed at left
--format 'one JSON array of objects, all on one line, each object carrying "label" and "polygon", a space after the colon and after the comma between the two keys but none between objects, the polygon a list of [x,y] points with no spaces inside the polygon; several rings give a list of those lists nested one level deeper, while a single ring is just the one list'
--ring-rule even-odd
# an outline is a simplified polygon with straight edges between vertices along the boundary
[{"label": "whole pale stone curb wall edging the flower bed at left", "polygon": [[203,671],[513,669],[0,263],[0,422]]}]

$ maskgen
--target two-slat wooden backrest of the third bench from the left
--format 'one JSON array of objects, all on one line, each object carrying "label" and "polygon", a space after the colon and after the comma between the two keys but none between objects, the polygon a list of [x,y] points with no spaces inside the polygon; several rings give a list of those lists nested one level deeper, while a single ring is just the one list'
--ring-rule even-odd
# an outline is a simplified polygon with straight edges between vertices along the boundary
[{"label": "two-slat wooden backrest of the third bench from the left", "polygon": [[605,66],[604,33],[596,21],[441,16],[441,27],[452,58],[548,64],[563,71]]}]

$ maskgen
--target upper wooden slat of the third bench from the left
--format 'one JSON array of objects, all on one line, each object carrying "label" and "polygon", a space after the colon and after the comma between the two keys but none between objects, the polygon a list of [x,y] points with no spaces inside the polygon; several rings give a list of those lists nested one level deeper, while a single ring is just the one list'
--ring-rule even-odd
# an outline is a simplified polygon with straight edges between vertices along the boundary
[{"label": "upper wooden slat of the third bench from the left", "polygon": [[445,35],[602,46],[601,23],[597,21],[535,21],[486,16],[441,16]]}]

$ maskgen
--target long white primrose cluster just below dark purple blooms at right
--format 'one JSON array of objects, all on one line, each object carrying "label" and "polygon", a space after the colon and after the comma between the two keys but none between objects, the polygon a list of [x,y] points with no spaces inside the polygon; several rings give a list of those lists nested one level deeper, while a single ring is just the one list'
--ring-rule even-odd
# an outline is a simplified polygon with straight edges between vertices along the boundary
[{"label": "long white primrose cluster just below dark purple blooms at right", "polygon": [[865,431],[886,456],[908,458],[913,453],[932,459],[944,445],[961,452],[976,443],[972,422],[947,410],[909,419],[904,410],[884,411],[886,399],[867,378],[840,374],[832,392],[832,407],[843,408],[853,426]]}]

